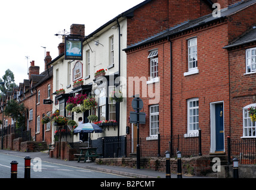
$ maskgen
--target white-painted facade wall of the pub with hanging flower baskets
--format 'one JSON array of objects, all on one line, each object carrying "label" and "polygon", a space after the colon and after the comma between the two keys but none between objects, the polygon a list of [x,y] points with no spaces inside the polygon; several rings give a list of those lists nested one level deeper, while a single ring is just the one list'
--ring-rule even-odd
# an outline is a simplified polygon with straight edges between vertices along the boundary
[{"label": "white-painted facade wall of the pub with hanging flower baskets", "polygon": [[[119,25],[121,29],[120,37],[120,61],[121,61],[121,85],[120,88],[123,97],[127,94],[127,55],[122,49],[127,47],[127,19],[119,18]],[[87,39],[83,43],[83,59],[80,61],[82,63],[82,79],[84,79],[84,85],[92,84],[92,94],[94,88],[97,84],[94,83],[94,73],[98,69],[107,69],[106,75],[118,74],[119,72],[119,28],[116,21],[113,21],[104,29],[94,32],[94,35]],[[96,30],[97,31],[97,30]],[[111,38],[113,37],[113,41]],[[97,43],[98,42],[98,43]],[[113,64],[110,62],[111,57],[111,42],[113,42],[113,53],[114,59]],[[90,52],[90,64],[88,64],[88,52]],[[55,58],[53,65],[53,91],[60,88],[64,88],[65,93],[72,92],[73,88],[73,68],[76,64],[76,60],[65,60],[64,55],[60,58]],[[71,68],[71,73],[70,73]],[[99,95],[100,96],[100,95]],[[98,96],[95,96],[98,102]],[[55,95],[53,96],[53,101],[55,100]],[[120,103],[120,124],[119,124],[119,135],[124,136],[126,132],[127,125],[127,99],[124,98],[123,102]],[[56,109],[60,109],[60,104],[55,105],[53,103],[53,113]],[[61,110],[60,110],[61,112]],[[74,113],[73,120],[78,123],[78,118],[83,116],[83,113]],[[96,110],[98,113],[98,109]],[[108,114],[108,113],[106,113]],[[97,114],[96,114],[97,115]],[[100,119],[100,118],[98,118]],[[54,141],[54,131],[55,126],[53,126],[53,141]],[[118,126],[114,128],[109,126],[109,128],[103,127],[103,133],[93,133],[91,134],[91,139],[95,140],[100,137],[117,137],[118,136]],[[79,141],[79,135],[74,135],[74,142]]]}]

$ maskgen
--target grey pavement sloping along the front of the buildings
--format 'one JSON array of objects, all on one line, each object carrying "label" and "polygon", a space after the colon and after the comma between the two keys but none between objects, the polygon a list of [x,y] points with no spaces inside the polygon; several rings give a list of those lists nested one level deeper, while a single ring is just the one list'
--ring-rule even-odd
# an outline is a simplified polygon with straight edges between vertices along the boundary
[{"label": "grey pavement sloping along the front of the buildings", "polygon": [[[95,162],[77,162],[77,161],[65,161],[61,159],[51,158],[48,155],[48,151],[41,151],[41,152],[20,152],[20,151],[12,151],[12,150],[0,150],[0,154],[9,154],[12,156],[18,157],[26,157],[30,156],[32,159],[35,157],[39,157],[42,161],[48,163],[56,163],[56,164],[63,164],[66,166],[72,167],[79,167],[84,169],[96,170],[99,172],[106,172],[106,173],[113,173],[122,176],[128,176],[131,178],[166,178],[165,172],[159,172],[155,170],[149,169],[134,169],[130,167],[122,167],[122,166],[110,166],[110,165],[103,165],[97,164]],[[171,178],[177,178],[177,175],[171,173]],[[183,175],[183,178],[211,178],[211,177],[199,177],[199,176],[189,176]]]}]

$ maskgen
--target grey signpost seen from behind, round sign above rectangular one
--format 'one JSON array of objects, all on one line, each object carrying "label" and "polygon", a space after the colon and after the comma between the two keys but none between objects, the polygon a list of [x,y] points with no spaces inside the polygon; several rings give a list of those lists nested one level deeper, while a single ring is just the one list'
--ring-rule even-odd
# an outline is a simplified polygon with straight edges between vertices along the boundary
[{"label": "grey signpost seen from behind, round sign above rectangular one", "polygon": [[140,135],[139,135],[139,124],[146,123],[146,113],[140,112],[143,108],[143,101],[140,97],[135,97],[131,103],[132,108],[135,112],[130,112],[130,122],[137,124],[137,169],[140,169]]}]

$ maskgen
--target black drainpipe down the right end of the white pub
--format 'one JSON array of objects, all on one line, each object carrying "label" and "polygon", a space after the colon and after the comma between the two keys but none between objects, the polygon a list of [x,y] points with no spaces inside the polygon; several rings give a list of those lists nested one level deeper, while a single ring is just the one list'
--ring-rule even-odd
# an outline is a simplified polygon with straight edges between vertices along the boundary
[{"label": "black drainpipe down the right end of the white pub", "polygon": [[[118,24],[118,74],[119,74],[119,86],[120,86],[120,79],[121,79],[121,28],[118,21],[118,18],[116,17],[116,23]],[[119,154],[119,138],[120,138],[120,102],[118,102],[118,151],[117,156]]]}]

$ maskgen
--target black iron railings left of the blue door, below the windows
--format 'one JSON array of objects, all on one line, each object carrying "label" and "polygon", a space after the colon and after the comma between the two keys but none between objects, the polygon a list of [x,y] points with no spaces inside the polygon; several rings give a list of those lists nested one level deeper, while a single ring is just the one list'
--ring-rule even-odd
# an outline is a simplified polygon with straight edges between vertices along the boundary
[{"label": "black iron railings left of the blue door, below the windows", "polygon": [[[169,151],[172,157],[177,151],[182,156],[200,156],[201,153],[201,131],[189,136],[184,135],[158,135],[155,138],[140,138],[140,157],[164,157]],[[132,157],[137,153],[137,138],[121,138],[103,140],[104,157]]]}]

